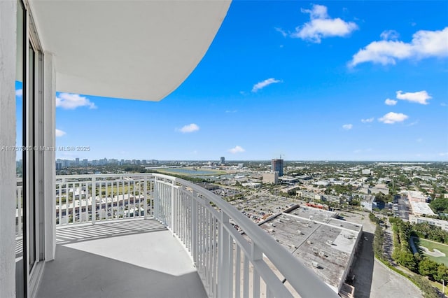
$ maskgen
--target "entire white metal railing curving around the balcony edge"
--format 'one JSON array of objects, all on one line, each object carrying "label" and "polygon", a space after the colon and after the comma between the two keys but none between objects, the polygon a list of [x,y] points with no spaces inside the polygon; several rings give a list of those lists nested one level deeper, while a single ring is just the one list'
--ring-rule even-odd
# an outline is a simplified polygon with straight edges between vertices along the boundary
[{"label": "entire white metal railing curving around the balcony edge", "polygon": [[152,216],[186,247],[210,297],[338,297],[235,207],[180,178],[57,176],[55,205],[57,225]]}]

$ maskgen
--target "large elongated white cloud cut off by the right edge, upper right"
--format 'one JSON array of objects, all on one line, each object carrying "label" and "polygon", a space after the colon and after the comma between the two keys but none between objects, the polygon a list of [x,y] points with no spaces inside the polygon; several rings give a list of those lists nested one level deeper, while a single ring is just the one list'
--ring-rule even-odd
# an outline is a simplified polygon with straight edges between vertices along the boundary
[{"label": "large elongated white cloud cut off by the right edge, upper right", "polygon": [[373,41],[365,48],[358,50],[349,62],[353,67],[360,63],[395,64],[401,59],[423,59],[426,57],[448,56],[448,27],[439,31],[416,31],[410,43],[394,41],[396,34],[381,33],[382,41]]}]

